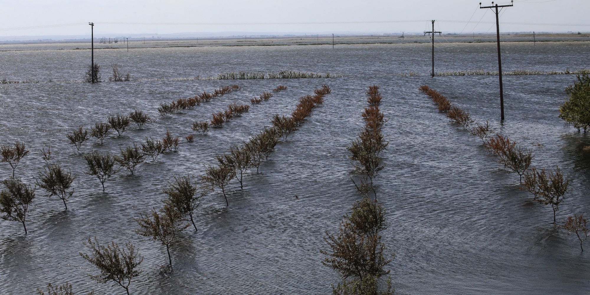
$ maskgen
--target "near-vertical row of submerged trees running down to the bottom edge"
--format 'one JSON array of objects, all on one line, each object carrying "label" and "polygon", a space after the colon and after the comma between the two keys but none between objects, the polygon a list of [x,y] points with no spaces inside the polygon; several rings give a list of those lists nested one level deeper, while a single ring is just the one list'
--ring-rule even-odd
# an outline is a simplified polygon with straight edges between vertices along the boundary
[{"label": "near-vertical row of submerged trees running down to the bottom edge", "polygon": [[391,286],[391,276],[386,278],[385,287],[382,290],[379,288],[379,279],[389,274],[385,267],[394,255],[385,255],[386,245],[381,241],[381,232],[386,230],[389,222],[385,218],[385,208],[377,201],[373,183],[379,171],[385,168],[379,154],[388,145],[381,132],[386,120],[379,110],[382,96],[378,89],[375,85],[368,87],[369,107],[362,113],[365,126],[346,147],[355,168],[350,179],[362,198],[355,201],[350,214],[344,215],[337,234],[326,231],[324,240],[330,251],[321,251],[327,255],[322,261],[324,266],[336,270],[342,280],[336,286],[331,284],[336,295],[390,295],[395,291]]}]

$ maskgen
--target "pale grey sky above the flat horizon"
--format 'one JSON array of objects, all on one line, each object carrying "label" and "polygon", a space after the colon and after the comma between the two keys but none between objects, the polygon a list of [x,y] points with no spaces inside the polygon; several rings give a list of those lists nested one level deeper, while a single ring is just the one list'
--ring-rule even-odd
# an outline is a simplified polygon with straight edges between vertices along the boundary
[{"label": "pale grey sky above the flat horizon", "polygon": [[[490,9],[478,9],[471,0],[255,0],[255,1],[3,1],[0,29],[93,22],[354,22],[440,19],[474,21],[473,24],[440,22],[437,30],[455,32],[494,31]],[[506,4],[508,1],[500,1]],[[490,1],[484,2],[489,5]],[[487,11],[487,12],[486,12]],[[501,22],[588,24],[589,0],[516,0]],[[485,14],[484,14],[485,12]],[[472,17],[473,16],[473,17]],[[420,32],[428,23],[289,24],[289,25],[125,25],[99,24],[104,34],[170,34],[175,32]],[[590,26],[502,24],[501,31],[590,31]],[[88,25],[0,31],[0,36],[81,35]]]}]

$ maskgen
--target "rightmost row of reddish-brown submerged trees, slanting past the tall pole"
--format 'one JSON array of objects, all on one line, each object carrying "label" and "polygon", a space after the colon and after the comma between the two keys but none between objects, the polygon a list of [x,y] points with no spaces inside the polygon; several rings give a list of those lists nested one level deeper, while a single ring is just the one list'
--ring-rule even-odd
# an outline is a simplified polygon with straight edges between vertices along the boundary
[{"label": "rightmost row of reddish-brown submerged trees, slanting past the tall pole", "polygon": [[[453,123],[459,124],[464,130],[470,132],[471,135],[480,137],[487,152],[496,156],[498,163],[503,165],[507,171],[519,175],[520,189],[533,194],[533,201],[551,206],[553,222],[556,222],[556,212],[559,210],[559,205],[563,202],[563,198],[568,192],[569,185],[568,176],[564,177],[559,167],[556,167],[552,171],[546,171],[544,168],[537,169],[531,166],[532,159],[534,158],[532,150],[518,145],[516,141],[510,140],[506,136],[498,133],[493,135],[493,130],[487,121],[485,124],[476,123],[475,120],[471,119],[469,113],[453,105],[446,97],[438,93],[438,91],[426,85],[420,86],[419,90],[428,94],[432,101],[437,104],[439,112],[446,113],[447,117]],[[576,234],[579,238],[581,248],[582,242],[590,234],[590,231],[586,228],[584,214],[574,214],[568,217],[561,227],[570,233]],[[582,251],[584,251],[583,248]]]}]

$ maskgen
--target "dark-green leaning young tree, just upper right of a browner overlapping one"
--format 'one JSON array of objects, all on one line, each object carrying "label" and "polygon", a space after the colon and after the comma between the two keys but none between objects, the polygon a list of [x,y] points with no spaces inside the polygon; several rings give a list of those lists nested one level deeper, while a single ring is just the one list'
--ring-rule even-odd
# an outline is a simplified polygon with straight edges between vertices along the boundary
[{"label": "dark-green leaning young tree, just upper right of a browner overlapping one", "polygon": [[169,205],[180,212],[183,216],[188,215],[188,221],[191,221],[192,226],[195,227],[195,221],[192,218],[194,211],[199,207],[199,199],[205,195],[205,192],[200,192],[195,196],[198,190],[196,183],[191,181],[191,176],[174,176],[174,182],[168,183],[168,186],[162,191],[168,195],[168,200],[165,201]]}]

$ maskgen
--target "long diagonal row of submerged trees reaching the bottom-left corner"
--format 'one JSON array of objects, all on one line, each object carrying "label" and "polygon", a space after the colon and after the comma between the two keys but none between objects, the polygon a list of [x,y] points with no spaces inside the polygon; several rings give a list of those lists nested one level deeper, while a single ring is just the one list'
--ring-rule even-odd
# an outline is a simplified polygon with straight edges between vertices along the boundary
[{"label": "long diagonal row of submerged trees reaching the bottom-left corner", "polygon": [[[201,199],[209,192],[213,192],[215,188],[219,188],[224,195],[226,205],[229,205],[225,189],[230,181],[234,178],[238,179],[243,188],[243,175],[247,169],[257,168],[258,172],[260,163],[263,159],[268,159],[279,138],[283,136],[286,139],[286,135],[297,130],[295,126],[301,126],[304,118],[309,116],[315,107],[323,103],[323,96],[328,93],[330,93],[330,88],[324,85],[320,89],[315,89],[313,96],[300,97],[299,104],[290,117],[276,114],[272,120],[272,127],[266,127],[263,132],[253,136],[241,146],[232,146],[229,153],[217,155],[215,157],[217,163],[207,166],[204,175],[199,176],[201,185],[191,179],[189,175],[175,176],[174,181],[162,189],[162,192],[168,196],[163,201],[162,207],[158,210],[152,209],[149,214],[140,215],[135,221],[139,225],[136,230],[137,234],[149,237],[165,246],[169,264],[162,267],[163,271],[172,270],[170,254],[172,241],[191,224],[195,231],[197,230],[194,214]],[[104,163],[102,160],[99,162]],[[116,242],[100,244],[96,238],[89,239],[84,245],[90,250],[90,253],[80,253],[81,257],[100,270],[100,274],[91,275],[91,279],[99,283],[112,282],[129,294],[129,286],[133,278],[142,272],[139,270],[139,265],[142,263],[143,257],[135,246],[130,242],[124,246],[119,246]],[[47,286],[49,294],[63,290],[71,291],[71,289],[72,286],[69,283],[61,286],[51,284]],[[40,289],[38,292],[39,294],[43,293]]]}]

